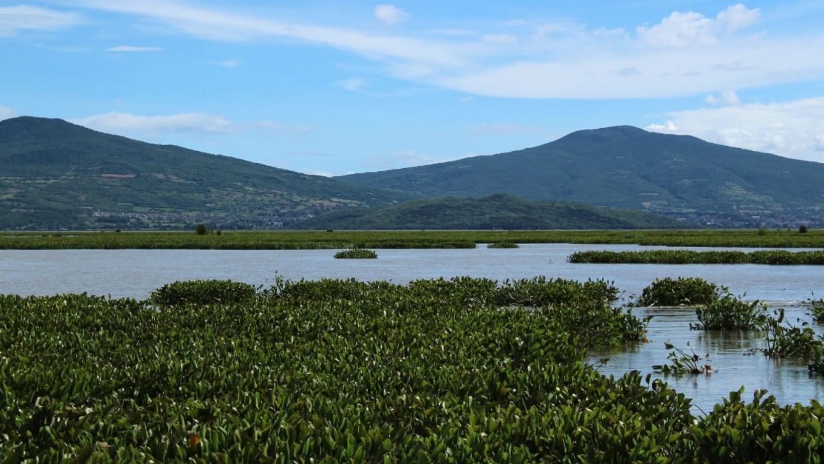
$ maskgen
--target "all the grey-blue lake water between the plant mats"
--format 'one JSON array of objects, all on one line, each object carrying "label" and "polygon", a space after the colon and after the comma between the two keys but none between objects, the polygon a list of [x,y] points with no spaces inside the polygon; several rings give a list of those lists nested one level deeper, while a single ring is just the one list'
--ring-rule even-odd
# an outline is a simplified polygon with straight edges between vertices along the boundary
[{"label": "all the grey-blue lake water between the plant mats", "polygon": [[[607,279],[623,290],[623,298],[640,294],[654,279],[701,277],[772,307],[786,307],[787,319],[808,321],[803,302],[815,293],[824,296],[824,266],[769,265],[572,265],[574,251],[649,250],[664,246],[634,245],[522,245],[519,249],[489,250],[378,250],[377,260],[335,260],[334,250],[301,251],[201,251],[201,250],[59,250],[0,251],[0,293],[50,295],[87,292],[112,297],[146,298],[152,290],[176,280],[232,279],[269,285],[276,275],[286,279],[356,278],[406,283],[470,275],[490,279],[522,279],[537,275],[564,279]],[[719,248],[689,248],[719,250]],[[737,248],[740,251],[754,249]],[[799,250],[800,251],[800,250]],[[760,332],[705,332],[690,330],[695,312],[689,308],[642,308],[639,316],[654,315],[647,344],[592,353],[590,361],[610,358],[599,368],[620,376],[630,370],[652,373],[653,364],[667,363],[664,342],[681,349],[687,342],[697,354],[709,353],[718,370],[709,376],[662,377],[693,398],[701,410],[746,388],[750,399],[766,388],[781,403],[824,400],[824,377],[810,375],[803,361],[766,359],[749,355],[763,346]],[[818,327],[813,324],[818,330]],[[696,408],[697,409],[697,408]],[[696,411],[698,412],[698,411]]]}]

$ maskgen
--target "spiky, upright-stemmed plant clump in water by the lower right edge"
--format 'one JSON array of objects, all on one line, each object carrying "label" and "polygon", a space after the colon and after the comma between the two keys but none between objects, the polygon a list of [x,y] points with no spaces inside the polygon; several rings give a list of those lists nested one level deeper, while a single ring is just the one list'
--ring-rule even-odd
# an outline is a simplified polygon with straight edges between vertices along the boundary
[{"label": "spiky, upright-stemmed plant clump in water by the lower right edge", "polygon": [[824,337],[817,335],[809,327],[796,327],[784,321],[784,309],[775,310],[777,317],[769,317],[766,347],[756,349],[770,358],[806,358],[822,359],[824,357]]}]

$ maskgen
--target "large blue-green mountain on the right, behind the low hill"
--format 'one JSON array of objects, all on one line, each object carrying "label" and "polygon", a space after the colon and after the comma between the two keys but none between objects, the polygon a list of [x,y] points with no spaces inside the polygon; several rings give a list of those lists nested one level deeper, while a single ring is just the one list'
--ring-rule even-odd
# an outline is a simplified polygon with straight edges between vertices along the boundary
[{"label": "large blue-green mountain on the right, behind the low hill", "polygon": [[631,126],[581,130],[516,152],[339,177],[418,197],[576,201],[656,213],[820,216],[824,164]]}]

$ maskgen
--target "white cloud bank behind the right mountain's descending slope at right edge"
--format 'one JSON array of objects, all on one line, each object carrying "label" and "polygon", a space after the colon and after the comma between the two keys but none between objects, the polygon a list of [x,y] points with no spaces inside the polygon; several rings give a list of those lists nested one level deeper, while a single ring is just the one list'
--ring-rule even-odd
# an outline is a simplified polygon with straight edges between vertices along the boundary
[{"label": "white cloud bank behind the right mountain's descending slope at right edge", "polygon": [[667,113],[648,130],[690,134],[709,142],[824,162],[824,96],[781,103]]}]

